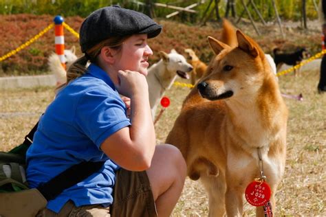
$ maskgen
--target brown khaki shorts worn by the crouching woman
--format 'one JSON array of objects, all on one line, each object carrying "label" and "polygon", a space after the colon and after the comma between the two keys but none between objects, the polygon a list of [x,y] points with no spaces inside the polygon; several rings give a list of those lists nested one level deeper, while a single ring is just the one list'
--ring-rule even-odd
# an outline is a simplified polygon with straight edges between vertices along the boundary
[{"label": "brown khaki shorts worn by the crouching woman", "polygon": [[146,172],[131,172],[120,169],[116,172],[116,186],[113,191],[113,205],[86,205],[76,207],[72,201],[68,201],[61,211],[56,214],[50,209],[43,209],[37,217],[52,216],[96,216],[96,217],[152,217],[157,216],[155,202],[149,178]]}]

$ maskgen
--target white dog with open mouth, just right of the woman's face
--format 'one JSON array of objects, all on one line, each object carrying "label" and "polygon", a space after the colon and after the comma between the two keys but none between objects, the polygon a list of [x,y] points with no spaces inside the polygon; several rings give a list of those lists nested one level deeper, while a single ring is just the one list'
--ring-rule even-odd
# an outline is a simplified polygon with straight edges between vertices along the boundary
[{"label": "white dog with open mouth, just right of the woman's face", "polygon": [[170,89],[177,75],[184,79],[189,79],[188,72],[193,70],[184,56],[178,54],[172,49],[170,54],[160,52],[161,60],[151,67],[146,76],[149,84],[149,103],[151,104],[151,112],[153,119],[157,105],[160,103],[166,90]]}]

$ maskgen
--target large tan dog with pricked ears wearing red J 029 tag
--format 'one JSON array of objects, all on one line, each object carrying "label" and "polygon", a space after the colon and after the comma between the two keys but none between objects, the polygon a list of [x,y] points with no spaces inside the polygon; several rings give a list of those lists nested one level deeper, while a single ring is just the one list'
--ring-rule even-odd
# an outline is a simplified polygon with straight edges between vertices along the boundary
[{"label": "large tan dog with pricked ears wearing red J 029 tag", "polygon": [[[275,193],[285,170],[288,111],[261,47],[237,31],[231,47],[208,37],[216,56],[184,100],[166,143],[204,184],[209,216],[242,216],[246,187],[263,174]],[[259,157],[260,156],[260,157]],[[257,216],[264,216],[257,207]]]}]

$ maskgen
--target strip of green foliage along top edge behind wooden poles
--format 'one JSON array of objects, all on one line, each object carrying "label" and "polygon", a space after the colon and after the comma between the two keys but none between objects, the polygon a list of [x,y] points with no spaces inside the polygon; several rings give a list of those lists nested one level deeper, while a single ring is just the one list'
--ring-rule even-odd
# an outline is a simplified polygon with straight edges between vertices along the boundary
[{"label": "strip of green foliage along top edge behind wooden poles", "polygon": [[[257,9],[262,14],[263,18],[266,21],[271,21],[275,19],[274,8],[272,5],[272,1],[270,0],[252,0],[254,4],[257,6]],[[301,2],[298,0],[275,0],[276,7],[279,10],[279,15],[282,19],[301,19]],[[140,2],[140,3],[137,3]],[[142,0],[142,1],[118,1],[118,0],[1,0],[0,1],[0,14],[61,14],[62,16],[87,16],[90,12],[105,7],[107,5],[119,4],[124,8],[129,8],[133,10],[137,10],[140,12],[144,12],[145,14],[149,14],[149,7],[146,6],[146,2],[152,3],[164,3],[167,5],[173,5],[185,8],[188,5],[193,3],[199,3],[198,0],[188,0],[188,1],[171,1],[171,0]],[[210,5],[208,13],[212,10],[215,10],[213,7],[215,5],[213,3]],[[248,2],[248,1],[244,1]],[[204,13],[208,9],[210,1],[206,0],[204,3],[197,5],[195,8],[191,8],[192,10],[196,10],[197,13],[189,13],[189,12],[180,12],[177,16],[171,17],[171,19],[175,21],[182,21],[184,23],[198,23],[202,20]],[[307,17],[309,19],[316,19],[317,12],[314,8],[313,0],[307,0]],[[248,5],[248,10],[250,10],[250,14],[253,19],[259,21],[259,16],[255,12],[253,5]],[[219,1],[219,14],[221,17],[225,15],[226,11],[226,1]],[[160,6],[155,6],[154,15],[155,17],[164,18],[166,15],[175,12],[175,9],[164,8]],[[243,17],[248,18],[248,14],[244,11],[244,7],[242,1],[236,1],[236,12],[237,16],[243,14]],[[212,13],[212,19],[216,18],[215,11]]]}]

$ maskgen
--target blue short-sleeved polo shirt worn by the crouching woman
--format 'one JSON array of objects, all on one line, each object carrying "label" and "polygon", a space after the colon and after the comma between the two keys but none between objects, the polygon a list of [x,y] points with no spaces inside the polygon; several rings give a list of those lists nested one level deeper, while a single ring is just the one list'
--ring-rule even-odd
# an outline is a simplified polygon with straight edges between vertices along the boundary
[{"label": "blue short-sleeved polo shirt worn by the crouching woman", "polygon": [[76,206],[110,205],[119,166],[100,150],[100,145],[130,124],[113,82],[105,71],[91,64],[85,75],[56,95],[39,120],[26,156],[30,187],[82,161],[105,161],[98,172],[48,201],[47,208],[58,213],[69,200]]}]

